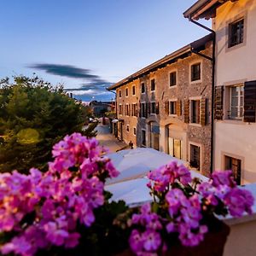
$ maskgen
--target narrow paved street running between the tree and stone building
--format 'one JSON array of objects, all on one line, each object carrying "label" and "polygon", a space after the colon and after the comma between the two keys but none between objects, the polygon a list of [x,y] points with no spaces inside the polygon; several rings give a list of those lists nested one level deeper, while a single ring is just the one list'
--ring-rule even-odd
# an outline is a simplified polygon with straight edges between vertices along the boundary
[{"label": "narrow paved street running between the tree and stone building", "polygon": [[127,146],[125,143],[119,142],[119,140],[109,132],[108,125],[97,125],[96,131],[96,139],[102,146],[108,148],[110,153]]}]

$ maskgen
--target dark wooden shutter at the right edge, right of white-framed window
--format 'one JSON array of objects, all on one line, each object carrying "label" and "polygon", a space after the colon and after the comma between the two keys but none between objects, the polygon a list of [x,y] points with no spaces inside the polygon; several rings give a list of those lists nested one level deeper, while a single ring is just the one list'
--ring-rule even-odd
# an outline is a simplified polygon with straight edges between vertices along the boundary
[{"label": "dark wooden shutter at the right edge, right of white-framed window", "polygon": [[244,86],[244,122],[255,123],[255,107],[256,81],[249,81]]}]

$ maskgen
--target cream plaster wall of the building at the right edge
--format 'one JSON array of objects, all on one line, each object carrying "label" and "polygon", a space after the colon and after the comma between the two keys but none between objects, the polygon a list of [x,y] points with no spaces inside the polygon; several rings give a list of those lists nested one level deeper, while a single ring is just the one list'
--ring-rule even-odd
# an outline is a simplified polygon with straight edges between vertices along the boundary
[{"label": "cream plaster wall of the building at the right edge", "polygon": [[[228,24],[245,16],[244,43],[228,48]],[[216,39],[216,85],[256,80],[256,0],[225,3],[212,21]],[[256,182],[256,124],[215,122],[214,168],[224,169],[224,154],[240,158],[243,183]]]}]

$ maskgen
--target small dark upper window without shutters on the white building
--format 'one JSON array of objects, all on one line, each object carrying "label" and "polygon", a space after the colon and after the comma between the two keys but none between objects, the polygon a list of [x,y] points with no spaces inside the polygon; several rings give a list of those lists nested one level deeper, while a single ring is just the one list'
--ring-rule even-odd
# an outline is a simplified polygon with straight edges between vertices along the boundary
[{"label": "small dark upper window without shutters on the white building", "polygon": [[237,20],[229,25],[229,47],[243,42],[244,20]]}]

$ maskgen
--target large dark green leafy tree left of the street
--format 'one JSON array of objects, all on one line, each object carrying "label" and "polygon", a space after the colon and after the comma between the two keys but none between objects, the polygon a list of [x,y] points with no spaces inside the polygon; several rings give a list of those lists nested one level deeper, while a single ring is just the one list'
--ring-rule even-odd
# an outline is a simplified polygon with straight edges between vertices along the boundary
[{"label": "large dark green leafy tree left of the street", "polygon": [[90,110],[38,77],[0,81],[0,172],[46,170],[52,146],[82,131]]}]

